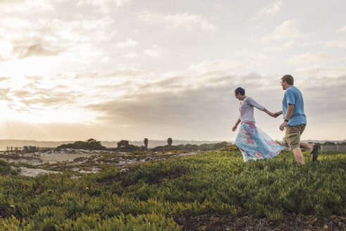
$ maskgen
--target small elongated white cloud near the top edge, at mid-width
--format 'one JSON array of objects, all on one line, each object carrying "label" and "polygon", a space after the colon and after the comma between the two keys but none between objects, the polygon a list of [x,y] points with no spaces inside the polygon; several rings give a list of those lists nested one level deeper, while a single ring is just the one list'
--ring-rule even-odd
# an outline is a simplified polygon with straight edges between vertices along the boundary
[{"label": "small elongated white cloud near the top edge, at mid-width", "polygon": [[137,13],[137,18],[147,23],[163,24],[168,29],[184,28],[192,32],[199,30],[214,31],[215,26],[203,18],[202,15],[190,13],[160,14],[144,11]]}]

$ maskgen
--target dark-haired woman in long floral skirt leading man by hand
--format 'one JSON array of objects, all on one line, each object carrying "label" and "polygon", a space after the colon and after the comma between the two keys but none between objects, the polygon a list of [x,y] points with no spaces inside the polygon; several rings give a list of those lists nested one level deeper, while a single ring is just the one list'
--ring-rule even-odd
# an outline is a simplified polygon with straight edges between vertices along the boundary
[{"label": "dark-haired woman in long floral skirt leading man by hand", "polygon": [[251,97],[245,96],[245,89],[242,89],[242,87],[235,89],[234,93],[235,98],[240,101],[240,118],[232,130],[235,132],[237,125],[241,123],[240,131],[235,139],[235,145],[242,151],[244,161],[273,158],[278,155],[283,149],[283,146],[280,146],[271,137],[266,135],[265,132],[260,130],[259,127],[256,127],[254,107],[260,111],[264,111],[269,116],[273,116],[273,113],[264,108],[264,106],[257,104]]}]

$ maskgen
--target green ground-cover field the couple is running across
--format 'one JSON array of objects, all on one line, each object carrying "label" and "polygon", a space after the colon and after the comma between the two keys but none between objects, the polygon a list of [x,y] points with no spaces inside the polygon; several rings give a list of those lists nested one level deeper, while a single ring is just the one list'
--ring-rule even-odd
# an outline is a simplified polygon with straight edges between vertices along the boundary
[{"label": "green ground-cover field the couple is running across", "polygon": [[104,161],[77,178],[68,167],[25,177],[0,161],[0,230],[345,230],[345,153],[304,153],[302,167],[290,151],[243,163],[229,150],[122,172]]}]

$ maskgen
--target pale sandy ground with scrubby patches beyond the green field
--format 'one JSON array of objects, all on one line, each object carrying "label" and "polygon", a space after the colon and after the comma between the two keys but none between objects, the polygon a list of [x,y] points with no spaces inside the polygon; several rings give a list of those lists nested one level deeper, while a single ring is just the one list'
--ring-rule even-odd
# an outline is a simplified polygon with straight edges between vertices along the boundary
[{"label": "pale sandy ground with scrubby patches beyond the green field", "polygon": [[[101,154],[109,154],[109,151],[89,151],[89,150],[74,150],[74,149],[66,149],[61,151],[46,151],[42,152],[40,158],[2,158],[5,161],[8,161],[9,163],[28,163],[32,166],[39,167],[40,165],[44,165],[45,163],[64,163],[68,165],[75,165],[79,163],[83,163],[83,161],[75,162],[73,161],[75,158],[90,158],[94,156],[95,159],[99,158]],[[133,155],[127,155],[127,154],[119,154],[119,162],[114,163],[116,166],[119,166],[122,168],[122,170],[126,170],[126,166],[134,163],[144,163],[154,160],[165,160],[167,158],[177,158],[181,156],[190,156],[194,155],[195,153],[190,154],[176,154],[173,156],[153,156],[153,155],[147,155],[144,157],[138,157],[136,158]],[[128,158],[127,158],[128,156]],[[27,157],[30,157],[28,155]],[[14,168],[14,167],[13,167]],[[91,168],[90,170],[81,170],[79,168],[73,168],[72,169],[75,172],[79,173],[97,173],[99,172],[98,168]],[[51,170],[44,170],[41,168],[25,168],[20,167],[20,175],[35,177],[37,175],[42,174],[49,174],[49,173],[61,173],[57,171],[51,171]]]}]

